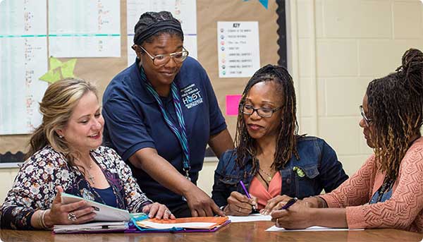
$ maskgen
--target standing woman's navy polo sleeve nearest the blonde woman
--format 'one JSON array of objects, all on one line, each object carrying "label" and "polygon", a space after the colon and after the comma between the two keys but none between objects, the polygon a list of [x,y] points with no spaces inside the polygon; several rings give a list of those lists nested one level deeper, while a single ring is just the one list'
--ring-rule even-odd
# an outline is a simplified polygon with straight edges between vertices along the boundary
[{"label": "standing woman's navy polo sleeve nearest the blonde woman", "polygon": [[155,148],[141,113],[142,111],[137,110],[125,97],[113,97],[103,104],[102,114],[109,138],[123,160],[127,160],[142,148]]}]

